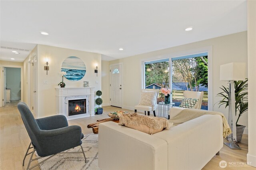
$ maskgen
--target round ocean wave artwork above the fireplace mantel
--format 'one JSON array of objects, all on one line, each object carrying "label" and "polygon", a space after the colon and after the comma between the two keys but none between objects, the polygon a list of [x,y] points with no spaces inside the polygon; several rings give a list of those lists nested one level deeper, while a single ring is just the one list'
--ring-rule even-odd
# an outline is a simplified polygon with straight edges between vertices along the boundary
[{"label": "round ocean wave artwork above the fireplace mantel", "polygon": [[66,71],[64,77],[71,81],[78,81],[82,79],[86,73],[86,66],[82,59],[71,56],[66,58],[61,66],[61,71]]}]

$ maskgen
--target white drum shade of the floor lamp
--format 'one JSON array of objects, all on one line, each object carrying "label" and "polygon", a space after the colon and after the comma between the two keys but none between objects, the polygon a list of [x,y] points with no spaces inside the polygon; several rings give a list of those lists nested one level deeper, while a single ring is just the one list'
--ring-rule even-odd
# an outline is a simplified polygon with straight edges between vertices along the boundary
[{"label": "white drum shade of the floor lamp", "polygon": [[246,79],[246,63],[228,63],[220,65],[220,80]]}]

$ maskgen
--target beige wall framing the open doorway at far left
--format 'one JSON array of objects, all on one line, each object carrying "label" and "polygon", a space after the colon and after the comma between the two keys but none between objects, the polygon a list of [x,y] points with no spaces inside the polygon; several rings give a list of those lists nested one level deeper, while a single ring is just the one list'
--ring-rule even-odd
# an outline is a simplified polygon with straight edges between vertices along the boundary
[{"label": "beige wall framing the open doorway at far left", "polygon": [[[16,68],[21,68],[21,71],[23,71],[23,65],[22,62],[14,62],[14,61],[2,61],[0,60],[0,107],[3,105],[3,74],[2,70],[3,67],[16,67]],[[23,75],[21,74],[21,81],[22,81]],[[23,84],[21,84],[21,99],[23,99]]]}]

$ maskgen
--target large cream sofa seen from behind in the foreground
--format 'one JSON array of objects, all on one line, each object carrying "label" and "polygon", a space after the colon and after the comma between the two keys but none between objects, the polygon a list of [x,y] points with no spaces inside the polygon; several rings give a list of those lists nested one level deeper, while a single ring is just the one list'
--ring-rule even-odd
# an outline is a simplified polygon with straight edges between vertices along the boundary
[{"label": "large cream sofa seen from behind in the foreground", "polygon": [[200,170],[223,147],[222,118],[204,115],[150,135],[114,122],[99,125],[102,170]]}]

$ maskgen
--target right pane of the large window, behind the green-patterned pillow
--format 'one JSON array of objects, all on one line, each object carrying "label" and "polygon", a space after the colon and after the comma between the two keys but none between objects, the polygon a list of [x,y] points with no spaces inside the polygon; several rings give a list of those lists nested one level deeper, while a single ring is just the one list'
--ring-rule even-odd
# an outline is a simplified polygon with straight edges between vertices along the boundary
[{"label": "right pane of the large window, behind the green-patterned pillow", "polygon": [[172,58],[172,102],[179,106],[183,91],[204,91],[201,109],[208,110],[208,53]]}]

